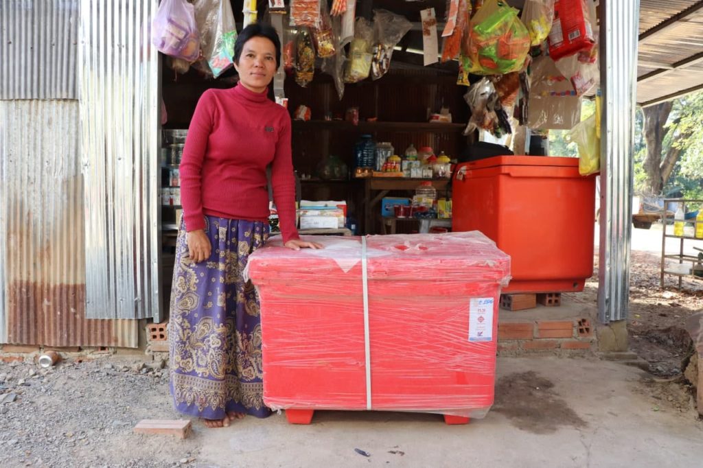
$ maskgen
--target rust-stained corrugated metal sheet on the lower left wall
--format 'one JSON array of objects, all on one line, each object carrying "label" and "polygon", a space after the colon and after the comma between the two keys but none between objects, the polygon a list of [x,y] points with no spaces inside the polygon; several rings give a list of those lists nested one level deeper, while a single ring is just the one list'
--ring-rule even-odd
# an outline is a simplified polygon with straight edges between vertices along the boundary
[{"label": "rust-stained corrugated metal sheet on the lower left wall", "polygon": [[0,101],[1,342],[137,346],[136,320],[87,320],[77,100]]}]

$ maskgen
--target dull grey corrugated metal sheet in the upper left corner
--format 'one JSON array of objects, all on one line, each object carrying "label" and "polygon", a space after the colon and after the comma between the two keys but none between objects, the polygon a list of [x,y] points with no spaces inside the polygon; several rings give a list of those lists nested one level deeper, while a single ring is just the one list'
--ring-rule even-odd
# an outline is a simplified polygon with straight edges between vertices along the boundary
[{"label": "dull grey corrugated metal sheet in the upper left corner", "polygon": [[0,1],[0,100],[76,99],[78,0]]}]

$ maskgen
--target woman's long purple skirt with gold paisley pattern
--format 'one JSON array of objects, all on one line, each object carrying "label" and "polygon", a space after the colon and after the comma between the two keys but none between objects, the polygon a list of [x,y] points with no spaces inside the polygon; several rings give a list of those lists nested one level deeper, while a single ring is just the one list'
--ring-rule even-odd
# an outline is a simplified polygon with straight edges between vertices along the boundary
[{"label": "woman's long purple skirt with gold paisley pattern", "polygon": [[205,216],[206,261],[188,257],[181,222],[169,318],[169,388],[176,410],[209,420],[257,417],[264,406],[259,298],[242,272],[269,237],[268,223]]}]

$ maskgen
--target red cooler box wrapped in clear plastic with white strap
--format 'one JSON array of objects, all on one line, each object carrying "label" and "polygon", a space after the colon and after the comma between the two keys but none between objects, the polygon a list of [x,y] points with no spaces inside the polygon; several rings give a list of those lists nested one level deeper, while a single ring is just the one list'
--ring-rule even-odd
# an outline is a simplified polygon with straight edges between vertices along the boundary
[{"label": "red cooler box wrapped in clear plastic with white strap", "polygon": [[325,249],[273,238],[247,266],[266,405],[304,424],[314,410],[437,412],[451,424],[486,414],[510,274],[494,242],[477,232],[307,239]]}]

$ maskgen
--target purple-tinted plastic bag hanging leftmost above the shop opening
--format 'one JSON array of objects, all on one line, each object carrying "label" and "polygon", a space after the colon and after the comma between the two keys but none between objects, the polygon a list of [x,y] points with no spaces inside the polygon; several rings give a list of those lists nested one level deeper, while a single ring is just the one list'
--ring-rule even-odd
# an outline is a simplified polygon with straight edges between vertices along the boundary
[{"label": "purple-tinted plastic bag hanging leftmost above the shop opening", "polygon": [[151,43],[167,56],[198,60],[200,34],[193,5],[186,0],[163,0],[151,23]]}]

